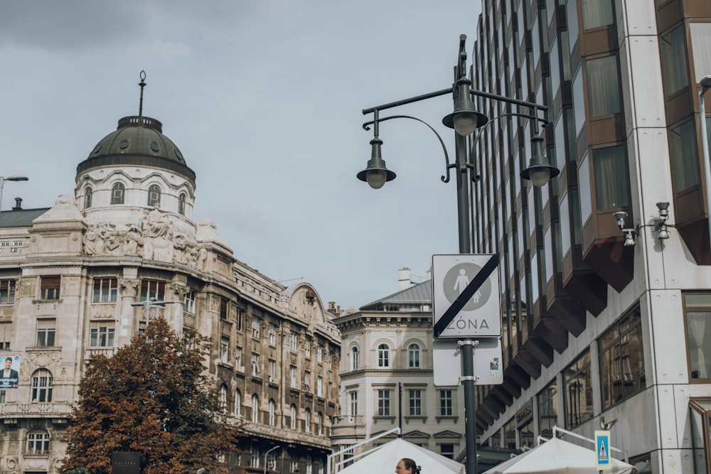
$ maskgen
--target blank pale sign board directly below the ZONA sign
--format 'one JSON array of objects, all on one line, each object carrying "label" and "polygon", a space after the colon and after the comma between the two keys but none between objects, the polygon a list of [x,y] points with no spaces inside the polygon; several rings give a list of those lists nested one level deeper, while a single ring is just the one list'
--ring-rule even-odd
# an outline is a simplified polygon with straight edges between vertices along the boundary
[{"label": "blank pale sign board directly below the ZONA sign", "polygon": [[[475,339],[474,377],[477,385],[503,384],[503,360],[499,338]],[[434,384],[437,387],[459,385],[461,350],[456,340],[432,341]]]}]

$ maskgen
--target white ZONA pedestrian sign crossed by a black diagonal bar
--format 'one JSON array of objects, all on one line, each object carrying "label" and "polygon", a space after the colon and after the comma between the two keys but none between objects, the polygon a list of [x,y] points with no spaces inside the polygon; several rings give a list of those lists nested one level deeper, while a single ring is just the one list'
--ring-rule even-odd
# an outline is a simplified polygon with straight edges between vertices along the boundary
[{"label": "white ZONA pedestrian sign crossed by a black diagonal bar", "polygon": [[501,336],[496,254],[432,256],[434,338]]}]

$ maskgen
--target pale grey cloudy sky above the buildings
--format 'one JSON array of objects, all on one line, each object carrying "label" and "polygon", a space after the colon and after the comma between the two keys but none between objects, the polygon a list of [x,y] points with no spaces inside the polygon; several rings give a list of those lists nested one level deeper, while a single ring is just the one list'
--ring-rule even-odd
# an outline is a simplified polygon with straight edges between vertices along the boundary
[{"label": "pale grey cloudy sky above the buildings", "polygon": [[[355,178],[370,158],[362,110],[451,87],[471,62],[480,0],[1,0],[3,210],[74,193],[76,166],[121,117],[144,115],[196,172],[193,220],[235,258],[324,304],[358,308],[459,251],[454,179],[413,120],[380,124],[395,181]],[[381,112],[437,129],[451,96]]]}]

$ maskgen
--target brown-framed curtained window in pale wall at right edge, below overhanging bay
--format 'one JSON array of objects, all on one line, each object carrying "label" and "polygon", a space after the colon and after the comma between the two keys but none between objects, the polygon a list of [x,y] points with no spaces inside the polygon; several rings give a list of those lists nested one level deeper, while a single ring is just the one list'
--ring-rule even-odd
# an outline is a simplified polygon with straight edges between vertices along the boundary
[{"label": "brown-framed curtained window in pale wall at right edge, below overhanging bay", "polygon": [[711,293],[685,293],[684,312],[692,379],[711,379]]}]

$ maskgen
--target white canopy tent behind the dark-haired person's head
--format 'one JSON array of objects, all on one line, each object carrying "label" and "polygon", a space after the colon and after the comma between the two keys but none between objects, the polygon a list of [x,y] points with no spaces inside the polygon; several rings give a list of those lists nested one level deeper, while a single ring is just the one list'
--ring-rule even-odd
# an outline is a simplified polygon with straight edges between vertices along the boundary
[{"label": "white canopy tent behind the dark-haired person's head", "polygon": [[368,456],[336,471],[337,474],[387,474],[395,472],[397,461],[410,458],[422,468],[422,474],[465,474],[464,464],[441,454],[397,438],[380,446]]}]

